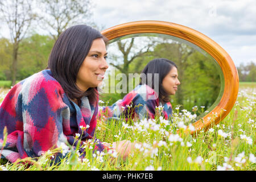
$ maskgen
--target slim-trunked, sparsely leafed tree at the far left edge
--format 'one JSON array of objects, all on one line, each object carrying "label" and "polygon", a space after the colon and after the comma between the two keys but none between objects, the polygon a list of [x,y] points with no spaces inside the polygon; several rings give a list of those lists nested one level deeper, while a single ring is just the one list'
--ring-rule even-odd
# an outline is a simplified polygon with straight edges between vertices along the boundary
[{"label": "slim-trunked, sparsely leafed tree at the far left edge", "polygon": [[12,62],[12,85],[16,82],[16,72],[18,64],[19,44],[26,36],[32,20],[36,14],[32,12],[30,1],[26,0],[1,0],[1,17],[7,23],[13,44],[13,62]]}]

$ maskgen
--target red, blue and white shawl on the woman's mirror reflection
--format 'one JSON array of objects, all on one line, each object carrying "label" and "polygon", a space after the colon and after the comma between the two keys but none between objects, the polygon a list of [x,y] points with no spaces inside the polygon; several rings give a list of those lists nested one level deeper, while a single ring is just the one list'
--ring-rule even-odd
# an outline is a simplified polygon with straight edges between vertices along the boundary
[{"label": "red, blue and white shawl on the woman's mirror reflection", "polygon": [[[162,110],[161,110],[162,109]],[[148,85],[138,85],[112,106],[100,107],[97,118],[155,118],[156,111],[165,119],[171,119],[172,105],[170,102],[159,103],[158,94]]]}]

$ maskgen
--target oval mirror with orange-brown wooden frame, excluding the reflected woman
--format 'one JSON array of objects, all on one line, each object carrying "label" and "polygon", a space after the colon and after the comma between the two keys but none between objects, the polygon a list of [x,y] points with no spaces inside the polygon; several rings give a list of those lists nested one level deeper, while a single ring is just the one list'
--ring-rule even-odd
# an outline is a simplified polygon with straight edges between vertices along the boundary
[{"label": "oval mirror with orange-brown wooden frame, excluding the reflected woman", "polygon": [[[175,96],[171,96],[173,109],[178,105],[191,111],[197,106],[202,111],[192,123],[196,130],[191,134],[219,123],[236,102],[239,80],[231,57],[200,32],[170,22],[139,21],[120,24],[101,33],[110,40],[110,71],[116,69],[127,78],[129,73],[139,75],[148,61],[156,57],[177,64],[181,84]],[[123,97],[137,85],[138,77],[129,81],[127,88],[108,92]]]}]

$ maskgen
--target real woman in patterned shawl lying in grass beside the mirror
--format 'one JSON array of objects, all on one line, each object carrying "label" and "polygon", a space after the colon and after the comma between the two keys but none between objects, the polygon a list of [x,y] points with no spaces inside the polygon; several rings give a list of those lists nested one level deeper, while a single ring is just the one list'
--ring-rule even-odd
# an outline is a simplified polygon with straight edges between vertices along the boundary
[{"label": "real woman in patterned shawl lying in grass beside the mirror", "polygon": [[[13,163],[65,142],[76,145],[76,136],[84,142],[95,139],[97,86],[109,67],[107,54],[106,38],[94,28],[77,25],[65,30],[52,48],[48,69],[20,81],[2,102],[0,149],[5,127],[8,133],[2,157]],[[95,149],[106,146],[97,142]]]}]

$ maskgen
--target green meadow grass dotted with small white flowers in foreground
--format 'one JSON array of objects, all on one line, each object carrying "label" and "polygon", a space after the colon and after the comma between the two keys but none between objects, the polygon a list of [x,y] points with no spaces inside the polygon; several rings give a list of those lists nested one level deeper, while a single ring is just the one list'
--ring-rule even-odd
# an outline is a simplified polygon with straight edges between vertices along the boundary
[{"label": "green meadow grass dotted with small white flowers in foreground", "polygon": [[[126,160],[118,158],[115,152],[93,155],[91,143],[82,145],[86,151],[84,159],[80,158],[78,148],[69,147],[68,150],[62,148],[62,152],[69,152],[58,165],[52,163],[56,150],[47,151],[37,159],[27,158],[14,164],[2,160],[0,170],[255,171],[255,90],[254,83],[240,83],[232,111],[218,125],[208,131],[200,131],[196,137],[183,132],[189,113],[179,110],[174,110],[173,123],[157,116],[155,121],[130,119],[129,123],[120,118],[119,121],[98,122],[96,134],[101,141],[127,139],[140,142]],[[180,135],[176,134],[177,129],[181,130]]]}]

